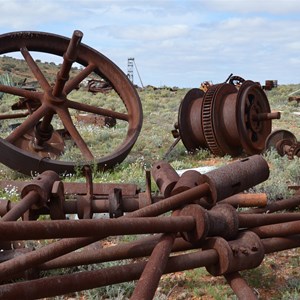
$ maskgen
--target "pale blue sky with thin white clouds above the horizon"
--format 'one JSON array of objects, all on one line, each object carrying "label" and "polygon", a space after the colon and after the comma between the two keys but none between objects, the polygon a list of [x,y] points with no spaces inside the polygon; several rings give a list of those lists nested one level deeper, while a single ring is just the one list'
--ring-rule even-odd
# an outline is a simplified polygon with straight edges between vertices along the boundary
[{"label": "pale blue sky with thin white clouds above the horizon", "polygon": [[[44,31],[98,50],[144,85],[199,87],[230,73],[300,83],[299,0],[0,0],[0,34]],[[60,62],[60,61],[58,61]],[[140,85],[136,73],[134,81]]]}]

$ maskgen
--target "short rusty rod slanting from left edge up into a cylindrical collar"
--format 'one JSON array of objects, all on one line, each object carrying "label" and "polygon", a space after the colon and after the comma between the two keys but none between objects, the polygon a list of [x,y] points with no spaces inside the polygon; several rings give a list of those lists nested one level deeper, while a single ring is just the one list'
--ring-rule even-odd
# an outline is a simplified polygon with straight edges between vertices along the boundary
[{"label": "short rusty rod slanting from left edge up into a cylindrical collar", "polygon": [[[22,215],[40,200],[40,196],[36,191],[30,191],[20,202],[17,203],[10,211],[8,211],[0,220],[1,221],[16,221]],[[10,240],[10,237],[8,237]]]}]

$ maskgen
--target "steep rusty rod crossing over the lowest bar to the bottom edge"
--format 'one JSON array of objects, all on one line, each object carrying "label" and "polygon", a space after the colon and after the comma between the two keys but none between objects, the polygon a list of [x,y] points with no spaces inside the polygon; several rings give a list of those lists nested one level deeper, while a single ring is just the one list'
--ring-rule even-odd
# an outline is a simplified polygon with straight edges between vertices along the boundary
[{"label": "steep rusty rod crossing over the lowest bar to the bottom edge", "polygon": [[174,243],[174,235],[163,235],[153,249],[151,256],[137,282],[131,300],[151,300],[159,284],[161,275],[168,263],[168,258]]}]

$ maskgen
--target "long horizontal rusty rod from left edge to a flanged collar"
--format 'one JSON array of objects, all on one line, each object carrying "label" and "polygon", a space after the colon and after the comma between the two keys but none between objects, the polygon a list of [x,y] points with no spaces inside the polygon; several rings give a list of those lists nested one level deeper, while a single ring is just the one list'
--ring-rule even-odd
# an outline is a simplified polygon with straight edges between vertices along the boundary
[{"label": "long horizontal rusty rod from left edge to a flanged collar", "polygon": [[74,237],[171,233],[190,231],[194,217],[147,217],[93,220],[23,221],[0,223],[0,240],[35,240]]}]

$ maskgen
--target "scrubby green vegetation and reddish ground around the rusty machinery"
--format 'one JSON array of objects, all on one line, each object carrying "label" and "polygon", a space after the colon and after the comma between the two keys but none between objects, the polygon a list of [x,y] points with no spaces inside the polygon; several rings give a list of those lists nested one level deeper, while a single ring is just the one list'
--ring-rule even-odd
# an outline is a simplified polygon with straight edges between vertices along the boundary
[{"label": "scrubby green vegetation and reddish ground around the rusty machinery", "polygon": [[[37,61],[43,73],[52,80],[58,66],[54,63],[42,63]],[[29,72],[22,60],[10,57],[0,58],[0,79],[9,80],[15,84],[32,82],[35,79]],[[71,76],[78,72],[72,69]],[[238,74],[243,76],[243,74]],[[51,79],[52,78],[52,79]],[[249,78],[255,80],[255,78]],[[199,86],[206,78],[199,78]],[[280,83],[279,83],[280,84]],[[300,109],[299,104],[288,101],[288,95],[300,89],[298,85],[279,85],[272,91],[267,92],[272,111],[280,111],[281,119],[273,121],[273,129],[286,129],[294,133],[300,139]],[[94,182],[125,182],[136,183],[142,190],[145,187],[145,169],[151,168],[152,164],[162,159],[174,141],[171,130],[177,121],[180,101],[189,89],[170,89],[168,87],[146,87],[138,88],[144,112],[144,122],[141,134],[132,151],[123,163],[109,172],[94,172]],[[1,96],[1,95],[0,95]],[[86,88],[81,87],[73,91],[70,98],[108,107],[117,111],[124,110],[122,101],[118,95],[111,91],[108,94],[88,93]],[[6,112],[10,106],[17,102],[17,98],[10,95],[2,95],[0,113]],[[8,133],[9,126],[16,120],[1,121],[1,136]],[[74,119],[74,122],[76,120]],[[100,145],[98,155],[110,153],[116,147],[120,139],[124,137],[125,131],[122,124],[115,128],[104,128],[99,130],[94,126],[80,128],[85,140],[95,145]],[[288,160],[280,157],[275,151],[263,154],[270,165],[270,178],[255,187],[251,192],[266,192],[269,201],[275,201],[289,197],[291,190],[288,185],[300,185],[299,158]],[[67,149],[64,160],[76,160],[78,154]],[[213,156],[208,150],[201,149],[194,155],[188,154],[181,142],[173,149],[167,160],[175,169],[187,169],[201,166],[221,166],[228,164],[237,158],[225,156],[223,158]],[[0,165],[0,179],[26,179],[25,176]],[[83,181],[81,175],[66,174],[65,181]],[[155,186],[153,185],[155,189]],[[17,191],[11,189],[3,190],[0,197],[15,200],[18,198]],[[288,252],[288,255],[278,253],[268,256],[264,263],[257,269],[245,271],[244,274],[249,284],[255,287],[261,299],[299,299],[299,250]],[[297,275],[298,274],[298,275]],[[102,288],[96,291],[86,292],[86,299],[124,299],[133,289],[133,284],[117,286],[116,288]],[[113,292],[114,291],[114,292]],[[73,295],[84,297],[83,294]],[[99,296],[101,295],[101,296]],[[222,278],[210,276],[204,269],[196,269],[178,274],[166,275],[161,281],[157,292],[157,299],[234,299],[230,288],[227,287]]]}]

